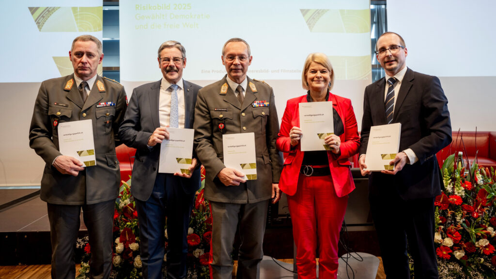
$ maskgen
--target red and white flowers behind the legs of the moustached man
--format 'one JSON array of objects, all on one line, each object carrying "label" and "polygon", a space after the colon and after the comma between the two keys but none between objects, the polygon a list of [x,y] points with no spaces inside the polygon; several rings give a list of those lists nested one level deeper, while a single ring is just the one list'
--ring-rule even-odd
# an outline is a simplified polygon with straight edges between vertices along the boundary
[{"label": "red and white flowers behind the legs of the moustached man", "polygon": [[[210,206],[203,198],[205,169],[201,166],[201,187],[196,192],[187,235],[187,278],[209,278],[210,239],[212,237],[212,217]],[[112,274],[113,279],[137,279],[142,277],[142,263],[139,256],[139,227],[136,204],[130,193],[131,179],[120,188],[114,211],[114,243]],[[167,239],[167,227],[164,228]],[[167,248],[167,241],[164,243]],[[89,279],[91,258],[88,236],[77,240],[76,248],[84,250],[81,268],[76,279]],[[166,257],[164,257],[164,262]],[[164,265],[164,274],[166,272]]]}]

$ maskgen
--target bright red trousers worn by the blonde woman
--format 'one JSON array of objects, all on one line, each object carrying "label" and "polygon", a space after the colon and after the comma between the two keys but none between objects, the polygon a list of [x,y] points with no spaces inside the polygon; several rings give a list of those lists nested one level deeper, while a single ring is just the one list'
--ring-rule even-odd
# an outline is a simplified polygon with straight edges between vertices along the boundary
[{"label": "bright red trousers worn by the blonde woman", "polygon": [[337,277],[339,231],[347,204],[348,196],[336,196],[330,175],[300,174],[296,194],[288,196],[298,279],[316,278],[317,243],[319,279]]}]

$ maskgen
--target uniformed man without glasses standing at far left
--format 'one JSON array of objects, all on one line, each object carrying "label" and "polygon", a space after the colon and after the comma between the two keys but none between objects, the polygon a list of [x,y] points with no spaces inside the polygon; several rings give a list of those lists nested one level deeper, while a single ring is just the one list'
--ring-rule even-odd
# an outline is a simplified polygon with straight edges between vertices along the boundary
[{"label": "uniformed man without glasses standing at far left", "polygon": [[[74,244],[79,215],[88,228],[91,278],[108,278],[112,269],[114,205],[119,192],[117,132],[126,110],[124,87],[97,75],[102,43],[91,35],[74,39],[69,52],[74,73],[41,83],[29,144],[46,162],[41,199],[47,202],[52,240],[52,278],[74,278]],[[91,119],[96,165],[82,167],[59,151],[63,122]]]}]

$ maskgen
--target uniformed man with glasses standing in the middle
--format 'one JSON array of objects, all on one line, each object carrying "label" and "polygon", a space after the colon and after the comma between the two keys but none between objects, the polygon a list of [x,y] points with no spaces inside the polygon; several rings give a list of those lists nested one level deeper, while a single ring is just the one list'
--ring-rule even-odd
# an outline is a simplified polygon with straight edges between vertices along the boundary
[{"label": "uniformed man with glasses standing in the middle", "polygon": [[[236,229],[241,247],[238,278],[258,278],[269,199],[279,200],[282,156],[276,149],[279,119],[272,88],[247,76],[249,45],[233,38],[224,44],[227,75],[198,92],[194,142],[205,166],[205,198],[212,209],[212,277],[231,278]],[[256,180],[224,165],[223,134],[255,134]]]}]

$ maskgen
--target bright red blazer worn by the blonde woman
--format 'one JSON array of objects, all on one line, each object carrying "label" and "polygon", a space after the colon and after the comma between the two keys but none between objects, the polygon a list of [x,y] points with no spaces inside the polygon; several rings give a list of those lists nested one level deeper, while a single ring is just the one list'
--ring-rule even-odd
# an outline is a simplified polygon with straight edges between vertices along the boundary
[{"label": "bright red blazer worn by the blonde woman", "polygon": [[[344,133],[339,136],[341,139],[341,154],[339,157],[336,158],[336,154],[332,153],[332,151],[327,151],[334,189],[338,197],[343,197],[355,189],[355,183],[351,175],[351,163],[348,158],[358,152],[360,138],[358,136],[357,119],[353,112],[351,100],[329,93],[328,101],[332,101],[332,108],[337,111],[344,126]],[[279,188],[290,196],[296,193],[298,177],[305,152],[300,150],[300,144],[291,150],[289,131],[293,126],[300,127],[298,104],[306,102],[307,95],[288,100],[282,117],[281,130],[277,135],[277,149],[288,154],[284,160],[284,167],[281,178],[279,179]]]}]

